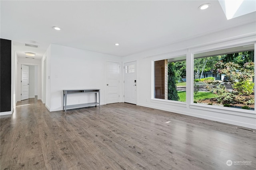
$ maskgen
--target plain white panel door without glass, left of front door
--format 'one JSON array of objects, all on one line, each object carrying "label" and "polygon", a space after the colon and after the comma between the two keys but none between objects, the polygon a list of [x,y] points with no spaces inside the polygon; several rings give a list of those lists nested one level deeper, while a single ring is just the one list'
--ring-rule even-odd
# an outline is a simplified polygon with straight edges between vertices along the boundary
[{"label": "plain white panel door without glass, left of front door", "polygon": [[119,63],[106,62],[107,64],[107,84],[106,84],[106,104],[119,102]]}]

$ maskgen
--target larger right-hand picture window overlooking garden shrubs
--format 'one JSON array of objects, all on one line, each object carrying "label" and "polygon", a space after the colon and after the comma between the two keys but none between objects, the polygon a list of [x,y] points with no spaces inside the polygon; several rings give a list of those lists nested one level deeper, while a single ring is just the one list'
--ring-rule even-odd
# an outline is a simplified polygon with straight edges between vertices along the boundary
[{"label": "larger right-hand picture window overlooking garden shrubs", "polygon": [[254,45],[195,54],[194,103],[254,110]]}]

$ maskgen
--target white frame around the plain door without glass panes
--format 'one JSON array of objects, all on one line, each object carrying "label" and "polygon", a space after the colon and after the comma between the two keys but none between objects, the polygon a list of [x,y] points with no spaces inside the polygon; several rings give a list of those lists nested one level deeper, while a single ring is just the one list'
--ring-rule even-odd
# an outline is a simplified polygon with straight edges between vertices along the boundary
[{"label": "white frame around the plain door without glass panes", "polygon": [[[120,102],[123,102],[123,98],[122,98],[122,96],[123,96],[123,93],[122,93],[122,89],[123,89],[123,86],[122,86],[122,81],[123,81],[123,77],[122,77],[122,62],[121,61],[116,61],[116,60],[105,60],[105,70],[107,70],[107,62],[113,62],[113,63],[119,63],[119,95],[120,95],[120,97],[119,97],[119,103]],[[108,94],[107,94],[107,86],[106,86],[106,84],[107,84],[107,82],[108,82],[108,73],[107,73],[107,71],[105,71],[105,83],[104,83],[104,90],[105,90],[105,98],[104,98],[104,104],[106,104],[107,103],[107,101],[108,101],[108,99],[107,99],[107,96],[108,96]]]}]

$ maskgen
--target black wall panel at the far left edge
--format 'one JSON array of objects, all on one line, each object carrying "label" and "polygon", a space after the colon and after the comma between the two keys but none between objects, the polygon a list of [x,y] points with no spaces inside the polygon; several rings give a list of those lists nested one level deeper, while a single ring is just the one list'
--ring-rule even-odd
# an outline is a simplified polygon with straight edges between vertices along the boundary
[{"label": "black wall panel at the far left edge", "polygon": [[0,41],[0,112],[11,111],[12,41]]}]

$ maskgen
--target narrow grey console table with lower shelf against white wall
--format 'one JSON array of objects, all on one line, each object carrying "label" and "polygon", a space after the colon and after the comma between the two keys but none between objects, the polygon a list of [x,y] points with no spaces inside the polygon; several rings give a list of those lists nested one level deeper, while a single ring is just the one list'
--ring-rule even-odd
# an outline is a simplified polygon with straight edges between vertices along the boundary
[{"label": "narrow grey console table with lower shelf against white wall", "polygon": [[[68,94],[87,94],[87,93],[95,93],[95,102],[94,103],[86,103],[86,104],[75,104],[67,106],[67,96]],[[99,95],[99,102],[97,103],[97,93]],[[67,109],[75,109],[81,107],[89,107],[89,106],[97,106],[100,107],[100,89],[83,89],[83,90],[63,90],[63,110],[67,111]]]}]

